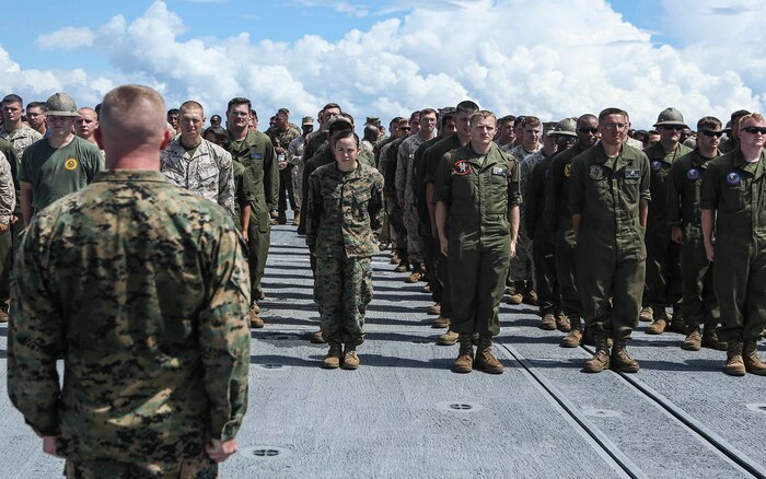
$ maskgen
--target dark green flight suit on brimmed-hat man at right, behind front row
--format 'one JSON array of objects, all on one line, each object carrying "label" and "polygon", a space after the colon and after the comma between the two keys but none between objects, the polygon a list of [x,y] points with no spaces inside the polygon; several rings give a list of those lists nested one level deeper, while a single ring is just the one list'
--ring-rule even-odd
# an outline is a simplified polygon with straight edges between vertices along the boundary
[{"label": "dark green flight suit on brimmed-hat man at right, behind front row", "polygon": [[666,152],[662,144],[654,143],[643,150],[649,159],[651,171],[649,205],[647,218],[647,279],[643,304],[659,309],[672,306],[681,300],[681,245],[670,237],[668,224],[668,178],[670,168],[676,159],[692,150],[678,143],[675,151]]}]

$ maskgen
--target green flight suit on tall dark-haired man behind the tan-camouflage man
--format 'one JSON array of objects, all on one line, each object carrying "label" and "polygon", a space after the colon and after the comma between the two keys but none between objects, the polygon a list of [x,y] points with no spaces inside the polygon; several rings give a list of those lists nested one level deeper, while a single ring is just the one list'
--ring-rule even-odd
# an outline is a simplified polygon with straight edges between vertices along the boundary
[{"label": "green flight suit on tall dark-haired man behind the tan-camouflage man", "polygon": [[229,152],[234,161],[245,167],[244,180],[253,195],[247,243],[252,296],[255,301],[264,297],[260,280],[271,242],[268,213],[277,208],[279,167],[271,139],[259,131],[248,131],[242,141],[232,139]]}]

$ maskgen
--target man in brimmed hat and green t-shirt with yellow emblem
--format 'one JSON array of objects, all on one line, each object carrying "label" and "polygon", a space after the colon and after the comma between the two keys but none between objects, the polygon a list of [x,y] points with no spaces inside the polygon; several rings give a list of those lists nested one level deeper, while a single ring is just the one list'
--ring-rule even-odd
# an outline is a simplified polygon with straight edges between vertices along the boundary
[{"label": "man in brimmed hat and green t-shirt with yellow emblem", "polygon": [[45,113],[50,136],[24,151],[19,171],[24,225],[57,199],[84,188],[104,167],[98,147],[72,133],[80,114],[71,96],[55,93]]}]

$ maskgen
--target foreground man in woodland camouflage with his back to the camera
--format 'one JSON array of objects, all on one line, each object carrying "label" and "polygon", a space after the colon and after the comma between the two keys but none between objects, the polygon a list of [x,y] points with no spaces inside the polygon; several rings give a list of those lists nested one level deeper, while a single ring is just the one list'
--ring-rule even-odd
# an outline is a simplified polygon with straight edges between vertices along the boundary
[{"label": "foreground man in woodland camouflage with his back to the camera", "polygon": [[109,170],[42,211],[19,247],[9,396],[69,478],[214,478],[237,448],[246,247],[227,211],[160,173],[164,108],[144,86],[107,93]]}]

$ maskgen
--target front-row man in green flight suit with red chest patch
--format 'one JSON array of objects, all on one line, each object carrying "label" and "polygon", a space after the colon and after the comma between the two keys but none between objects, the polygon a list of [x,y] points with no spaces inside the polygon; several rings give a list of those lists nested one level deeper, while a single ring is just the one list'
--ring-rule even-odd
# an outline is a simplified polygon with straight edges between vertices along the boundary
[{"label": "front-row man in green flight suit with red chest patch", "polygon": [[448,258],[454,316],[460,335],[456,373],[474,366],[473,336],[477,334],[476,366],[501,374],[492,354],[492,337],[500,334],[498,312],[504,292],[508,261],[515,254],[519,232],[519,167],[492,142],[497,119],[483,110],[471,117],[471,142],[442,156],[433,201],[441,253]]}]

